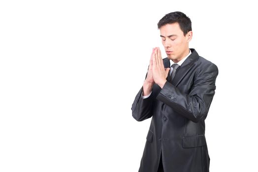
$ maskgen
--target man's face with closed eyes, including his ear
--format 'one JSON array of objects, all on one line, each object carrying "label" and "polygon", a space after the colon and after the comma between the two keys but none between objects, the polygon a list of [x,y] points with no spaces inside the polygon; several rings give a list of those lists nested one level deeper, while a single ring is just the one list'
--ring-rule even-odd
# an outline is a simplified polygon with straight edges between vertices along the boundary
[{"label": "man's face with closed eyes, including his ear", "polygon": [[162,44],[169,59],[177,63],[189,54],[192,31],[185,36],[178,23],[166,24],[160,28],[160,31]]}]

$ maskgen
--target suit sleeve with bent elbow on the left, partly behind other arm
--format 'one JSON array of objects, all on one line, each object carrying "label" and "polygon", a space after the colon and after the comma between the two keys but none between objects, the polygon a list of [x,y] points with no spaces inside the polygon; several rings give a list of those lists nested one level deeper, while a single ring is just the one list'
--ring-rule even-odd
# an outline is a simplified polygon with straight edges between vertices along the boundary
[{"label": "suit sleeve with bent elbow on the left, partly behind other arm", "polygon": [[[147,77],[147,74],[145,76],[145,79],[146,77]],[[141,96],[142,91],[143,91],[143,86],[135,96],[135,99],[131,106],[132,116],[137,121],[143,121],[145,119],[150,118],[153,115],[153,108],[152,108],[153,101],[154,101],[153,92],[149,97],[143,98]]]}]

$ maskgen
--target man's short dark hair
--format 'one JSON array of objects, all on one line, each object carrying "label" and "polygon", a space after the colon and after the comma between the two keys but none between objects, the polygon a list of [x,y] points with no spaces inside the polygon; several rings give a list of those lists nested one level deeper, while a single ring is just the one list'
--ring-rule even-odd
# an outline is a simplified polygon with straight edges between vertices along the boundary
[{"label": "man's short dark hair", "polygon": [[180,29],[186,35],[189,31],[192,31],[192,22],[189,17],[180,11],[175,11],[166,14],[158,23],[158,29],[166,24],[178,23]]}]

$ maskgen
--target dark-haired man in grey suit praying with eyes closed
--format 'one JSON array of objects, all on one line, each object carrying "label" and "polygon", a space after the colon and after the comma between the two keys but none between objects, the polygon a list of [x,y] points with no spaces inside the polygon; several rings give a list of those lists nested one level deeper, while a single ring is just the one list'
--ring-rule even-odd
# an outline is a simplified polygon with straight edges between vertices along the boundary
[{"label": "dark-haired man in grey suit praying with eyes closed", "polygon": [[204,120],[218,68],[189,49],[192,23],[184,13],[166,14],[158,29],[167,57],[153,49],[131,108],[137,121],[152,117],[139,172],[209,172]]}]

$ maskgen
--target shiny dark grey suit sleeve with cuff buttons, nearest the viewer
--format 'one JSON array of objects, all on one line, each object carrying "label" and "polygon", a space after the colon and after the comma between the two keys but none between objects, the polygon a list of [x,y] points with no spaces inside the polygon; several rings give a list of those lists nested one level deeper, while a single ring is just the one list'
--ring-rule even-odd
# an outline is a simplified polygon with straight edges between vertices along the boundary
[{"label": "shiny dark grey suit sleeve with cuff buttons, nearest the viewer", "polygon": [[171,107],[178,114],[194,122],[205,119],[213,96],[218,68],[211,63],[203,67],[195,76],[194,84],[189,94],[182,93],[177,87],[166,82],[157,99]]}]

